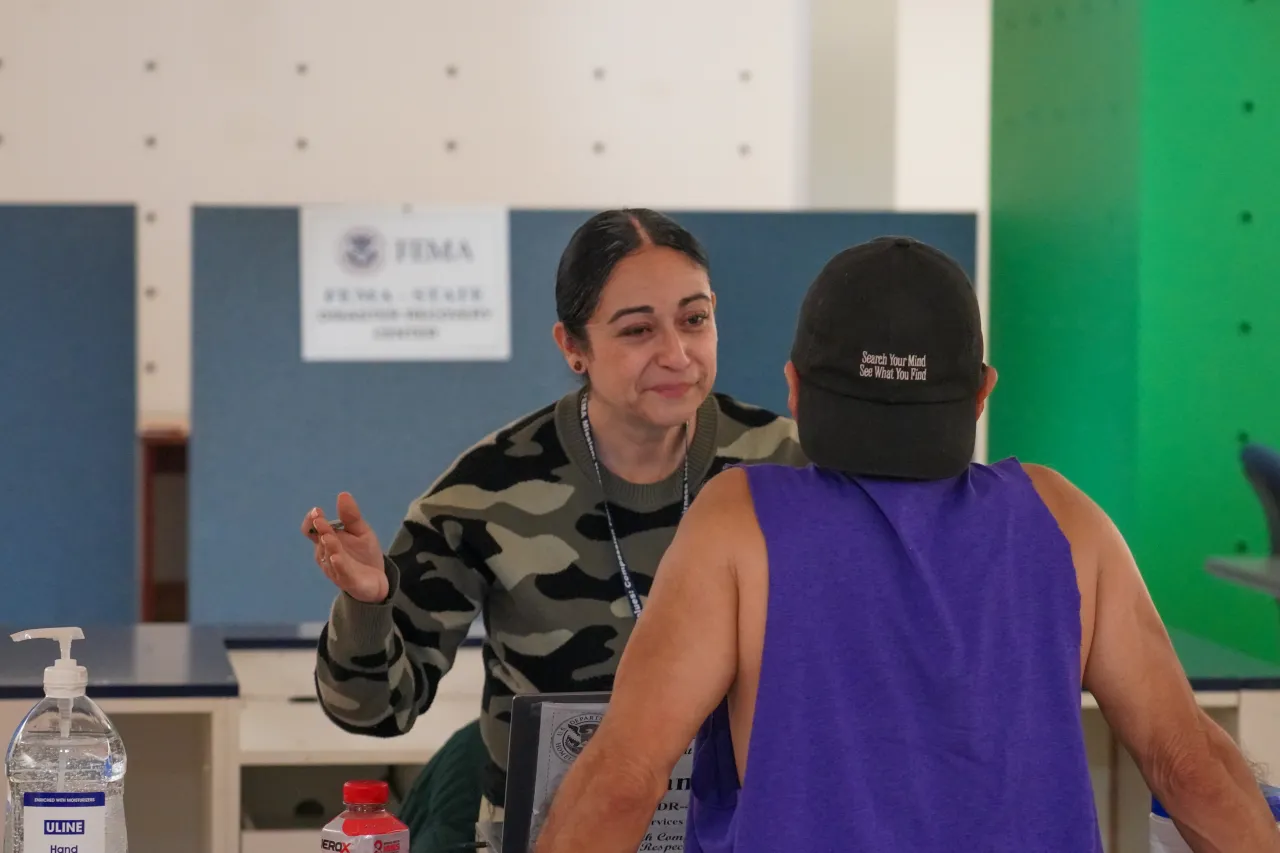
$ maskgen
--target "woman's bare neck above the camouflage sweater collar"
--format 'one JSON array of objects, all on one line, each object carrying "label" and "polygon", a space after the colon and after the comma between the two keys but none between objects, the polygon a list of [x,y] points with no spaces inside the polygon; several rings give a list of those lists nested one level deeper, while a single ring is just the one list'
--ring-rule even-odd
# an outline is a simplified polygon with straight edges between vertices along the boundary
[{"label": "woman's bare neck above the camouflage sweater collar", "polygon": [[667,479],[684,464],[692,441],[691,424],[655,426],[628,418],[594,396],[588,397],[586,416],[591,420],[600,465],[628,483],[645,485]]}]

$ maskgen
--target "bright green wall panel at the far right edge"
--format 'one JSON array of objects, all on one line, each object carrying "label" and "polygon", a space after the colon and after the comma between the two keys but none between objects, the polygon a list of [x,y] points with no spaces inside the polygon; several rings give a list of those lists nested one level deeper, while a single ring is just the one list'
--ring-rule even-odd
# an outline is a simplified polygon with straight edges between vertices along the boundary
[{"label": "bright green wall panel at the far right edge", "polygon": [[1204,573],[1263,553],[1242,438],[1280,447],[1280,5],[1143,12],[1140,555],[1165,617],[1277,658],[1276,606]]}]

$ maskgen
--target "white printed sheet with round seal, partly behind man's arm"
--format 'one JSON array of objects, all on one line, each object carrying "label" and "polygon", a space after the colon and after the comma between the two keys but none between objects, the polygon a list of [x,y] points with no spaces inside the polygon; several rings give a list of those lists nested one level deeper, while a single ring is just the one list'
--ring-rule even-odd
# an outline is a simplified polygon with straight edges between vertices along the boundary
[{"label": "white printed sheet with round seal, partly behind man's arm", "polygon": [[[534,812],[529,827],[532,849],[547,820],[556,792],[570,766],[595,734],[607,703],[544,702],[538,738],[538,771],[534,776]],[[667,793],[649,821],[639,853],[684,853],[685,820],[689,816],[690,780],[694,775],[694,744],[689,744],[671,770]]]}]

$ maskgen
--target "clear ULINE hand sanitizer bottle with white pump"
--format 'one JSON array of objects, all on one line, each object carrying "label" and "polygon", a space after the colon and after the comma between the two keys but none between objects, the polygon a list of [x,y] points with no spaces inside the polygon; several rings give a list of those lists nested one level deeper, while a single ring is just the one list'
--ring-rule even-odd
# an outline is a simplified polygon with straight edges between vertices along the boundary
[{"label": "clear ULINE hand sanitizer bottle with white pump", "polygon": [[14,642],[55,639],[61,657],[45,669],[45,698],[9,742],[5,853],[125,853],[124,743],[84,695],[88,671],[70,656],[78,628],[46,628]]}]

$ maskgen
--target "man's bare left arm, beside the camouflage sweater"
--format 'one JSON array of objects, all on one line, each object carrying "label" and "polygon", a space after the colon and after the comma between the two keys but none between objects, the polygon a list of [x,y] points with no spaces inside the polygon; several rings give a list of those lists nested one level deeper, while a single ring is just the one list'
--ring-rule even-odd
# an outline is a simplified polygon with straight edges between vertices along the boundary
[{"label": "man's bare left arm, beside the camouflage sweater", "polygon": [[609,708],[552,804],[538,853],[635,853],[671,770],[737,674],[733,549],[755,524],[744,471],[681,521],[618,663]]}]

